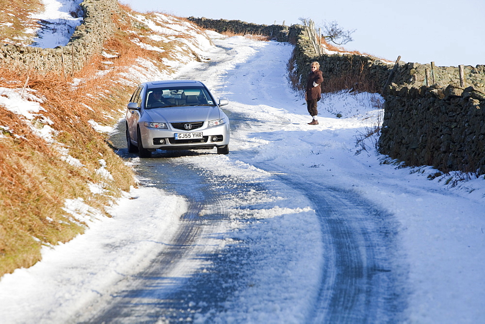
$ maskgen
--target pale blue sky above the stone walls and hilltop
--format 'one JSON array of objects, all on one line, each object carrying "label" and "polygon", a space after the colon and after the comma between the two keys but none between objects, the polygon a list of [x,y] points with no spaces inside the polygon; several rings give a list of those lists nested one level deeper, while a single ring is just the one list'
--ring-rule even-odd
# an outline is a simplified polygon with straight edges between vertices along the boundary
[{"label": "pale blue sky above the stone walls and hilltop", "polygon": [[[345,49],[395,61],[438,66],[485,65],[484,0],[315,1],[296,0],[120,0],[138,12],[176,16],[239,19],[271,25],[300,23],[311,18],[317,27],[337,21],[356,30]],[[459,4],[458,4],[459,3]]]}]

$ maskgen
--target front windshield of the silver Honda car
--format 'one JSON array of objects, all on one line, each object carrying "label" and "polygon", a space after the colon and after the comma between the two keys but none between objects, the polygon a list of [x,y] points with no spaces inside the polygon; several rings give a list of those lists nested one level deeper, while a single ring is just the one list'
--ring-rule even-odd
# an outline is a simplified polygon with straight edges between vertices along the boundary
[{"label": "front windshield of the silver Honda car", "polygon": [[204,87],[185,86],[148,89],[146,109],[183,106],[215,106],[215,102]]}]

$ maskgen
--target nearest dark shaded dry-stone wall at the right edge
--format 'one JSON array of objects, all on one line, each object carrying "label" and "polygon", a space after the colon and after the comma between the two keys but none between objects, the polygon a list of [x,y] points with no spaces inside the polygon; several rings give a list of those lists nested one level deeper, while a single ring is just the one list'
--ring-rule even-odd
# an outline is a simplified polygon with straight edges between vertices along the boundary
[{"label": "nearest dark shaded dry-stone wall at the right edge", "polygon": [[485,94],[469,86],[392,84],[380,152],[408,165],[485,174]]}]

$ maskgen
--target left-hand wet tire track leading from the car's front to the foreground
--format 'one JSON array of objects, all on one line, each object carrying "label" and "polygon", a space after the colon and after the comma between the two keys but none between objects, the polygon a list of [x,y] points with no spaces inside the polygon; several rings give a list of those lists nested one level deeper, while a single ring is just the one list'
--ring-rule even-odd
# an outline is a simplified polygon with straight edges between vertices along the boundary
[{"label": "left-hand wet tire track leading from the car's front to the foreground", "polygon": [[[178,321],[190,318],[195,311],[200,312],[205,299],[221,302],[230,293],[221,285],[217,296],[209,297],[203,281],[197,279],[207,274],[203,269],[212,262],[218,241],[221,241],[217,223],[228,218],[228,210],[201,170],[177,159],[187,154],[197,155],[154,153],[152,159],[141,160],[138,170],[145,177],[142,184],[185,196],[189,202],[188,211],[182,216],[174,239],[164,242],[161,252],[144,271],[119,283],[117,292],[99,303],[102,306],[92,305],[89,310],[94,317],[87,315],[83,318],[85,323]],[[220,285],[217,275],[212,278]]]}]

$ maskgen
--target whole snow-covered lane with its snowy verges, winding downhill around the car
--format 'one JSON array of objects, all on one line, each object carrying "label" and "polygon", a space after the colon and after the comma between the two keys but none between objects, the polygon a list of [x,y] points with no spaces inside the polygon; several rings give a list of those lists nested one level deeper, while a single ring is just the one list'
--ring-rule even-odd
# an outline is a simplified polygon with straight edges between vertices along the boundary
[{"label": "whole snow-covered lane with its snowy verges, winding downhill around the car", "polygon": [[176,77],[230,100],[229,155],[134,159],[137,199],[2,277],[2,322],[484,322],[483,179],[448,188],[429,167],[356,155],[382,98],[325,97],[308,126],[290,45],[214,42],[211,63]]}]

